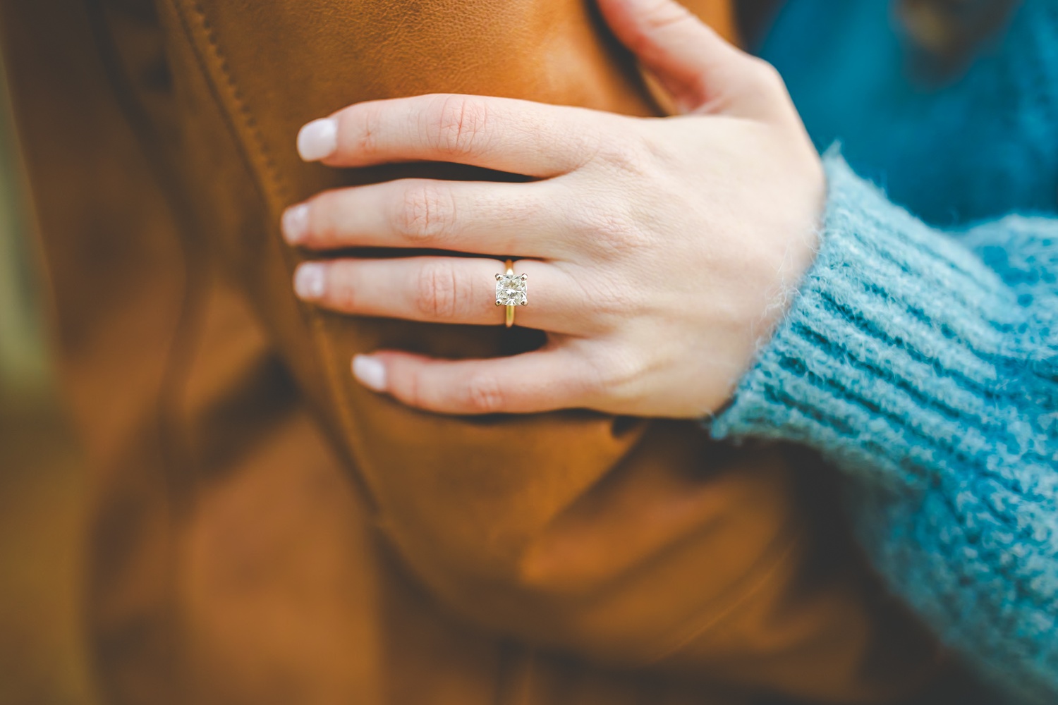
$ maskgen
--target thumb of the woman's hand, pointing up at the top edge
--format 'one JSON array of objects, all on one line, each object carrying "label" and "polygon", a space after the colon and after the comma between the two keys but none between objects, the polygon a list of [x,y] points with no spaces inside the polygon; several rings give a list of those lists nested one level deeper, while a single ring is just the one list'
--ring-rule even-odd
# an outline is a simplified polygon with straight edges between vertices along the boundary
[{"label": "thumb of the woman's hand, pointing up at the top edge", "polygon": [[[683,112],[748,112],[763,61],[736,49],[675,0],[598,0],[610,30]],[[746,110],[740,110],[745,108]]]}]

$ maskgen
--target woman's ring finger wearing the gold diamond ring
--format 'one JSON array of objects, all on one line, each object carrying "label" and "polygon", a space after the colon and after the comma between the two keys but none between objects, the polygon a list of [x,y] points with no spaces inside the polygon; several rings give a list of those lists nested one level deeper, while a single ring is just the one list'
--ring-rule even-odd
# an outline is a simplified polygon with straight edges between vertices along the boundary
[{"label": "woman's ring finger wearing the gold diamond ring", "polygon": [[[535,260],[518,260],[514,270],[526,275],[529,302],[517,307],[518,326],[586,332],[588,302],[568,274]],[[342,313],[499,326],[505,307],[496,305],[496,275],[504,271],[496,260],[460,257],[309,262],[294,274],[294,290],[304,300]]]}]

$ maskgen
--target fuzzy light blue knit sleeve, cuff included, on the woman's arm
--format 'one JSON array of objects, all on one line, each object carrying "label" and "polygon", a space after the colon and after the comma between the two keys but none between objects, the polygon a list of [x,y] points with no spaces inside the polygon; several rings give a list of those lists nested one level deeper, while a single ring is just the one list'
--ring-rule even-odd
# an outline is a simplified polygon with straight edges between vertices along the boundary
[{"label": "fuzzy light blue knit sleeve, cuff included, on the woman's arm", "polygon": [[938,230],[824,162],[816,263],[712,433],[819,450],[894,592],[1056,702],[1058,220]]}]

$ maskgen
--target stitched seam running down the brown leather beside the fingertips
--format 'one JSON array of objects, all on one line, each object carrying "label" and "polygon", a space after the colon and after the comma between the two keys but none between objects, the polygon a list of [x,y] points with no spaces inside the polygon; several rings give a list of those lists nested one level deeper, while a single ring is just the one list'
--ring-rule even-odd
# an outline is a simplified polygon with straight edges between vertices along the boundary
[{"label": "stitched seam running down the brown leather beside the fingertips", "polygon": [[[202,8],[201,3],[197,0],[169,0],[169,2],[177,11],[177,16],[181,19],[181,24],[187,35],[191,50],[195,53],[203,76],[206,79],[206,84],[209,86],[209,90],[214,94],[214,99],[220,108],[221,115],[227,123],[236,147],[242,154],[245,166],[251,174],[251,178],[255,182],[258,191],[260,192],[261,200],[264,202],[266,208],[272,205],[272,201],[276,204],[285,203],[289,200],[289,188],[286,188],[284,180],[279,174],[279,170],[276,168],[275,162],[269,154],[264,140],[261,136],[260,131],[257,129],[256,120],[253,115],[250,114],[250,110],[242,99],[235,79],[232,76],[231,71],[229,71],[227,60],[224,58],[223,52],[220,51],[216,36],[209,26],[208,17]],[[188,7],[189,13],[187,11]],[[194,14],[197,17],[198,33],[196,33],[196,27],[191,26],[187,17],[188,14]],[[215,64],[216,72],[219,73],[223,79],[223,88],[226,89],[231,106],[221,95],[221,86],[218,85],[220,81],[218,81],[209,71],[209,62],[207,61],[207,58],[203,56],[199,41],[196,41],[196,34],[199,35],[199,39],[204,40],[205,44],[209,48],[209,51],[213,54],[213,63]],[[234,109],[232,106],[234,106]],[[241,118],[242,130],[239,129],[239,125],[235,122],[236,115]],[[242,138],[243,132],[247,136],[245,141]],[[252,144],[248,145],[247,142]],[[270,196],[272,198],[270,198]],[[273,223],[277,223],[279,220],[279,214],[272,212],[271,216],[271,221]],[[272,237],[279,237],[278,229],[275,225],[266,225],[266,228]],[[293,253],[290,252],[285,245],[280,247],[280,253],[284,264],[286,264],[287,267],[287,273],[292,275],[295,265]],[[355,438],[357,434],[353,433],[354,425],[352,423],[352,414],[348,406],[343,404],[344,400],[341,398],[340,390],[344,388],[344,383],[338,377],[338,373],[334,372],[334,370],[338,369],[338,366],[334,365],[336,355],[328,341],[327,336],[324,335],[323,319],[314,309],[309,308],[306,304],[302,304],[302,312],[308,319],[309,330],[311,331],[315,342],[314,349],[318,351],[316,355],[316,363],[323,369],[323,373],[326,377],[328,393],[331,396],[332,405],[338,412],[338,418],[342,425],[341,430],[345,433],[346,438]],[[365,478],[363,472],[360,471],[360,467],[363,466],[363,463],[362,459],[357,457],[357,444],[347,444],[346,449],[353,456],[353,464],[357,466],[355,476],[358,484],[364,491],[365,500],[372,508],[372,514],[375,514],[375,509],[378,507],[378,502],[375,500],[375,494],[371,491],[367,478]]]}]

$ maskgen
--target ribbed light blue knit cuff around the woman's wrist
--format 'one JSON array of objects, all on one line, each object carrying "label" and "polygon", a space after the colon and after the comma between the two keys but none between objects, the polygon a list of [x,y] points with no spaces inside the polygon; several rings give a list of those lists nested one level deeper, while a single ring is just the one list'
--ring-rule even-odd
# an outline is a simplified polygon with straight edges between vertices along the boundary
[{"label": "ribbed light blue knit cuff around the woman's wrist", "polygon": [[[816,262],[787,316],[707,425],[815,447],[889,482],[972,449],[999,384],[1010,298],[965,244],[890,203],[832,150]],[[1013,307],[1017,309],[1016,302]],[[983,443],[985,440],[982,438]],[[919,462],[920,461],[920,462]]]}]

